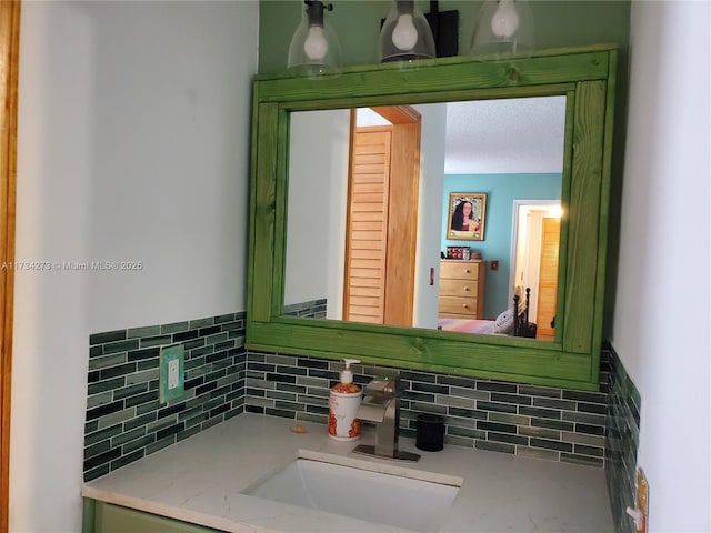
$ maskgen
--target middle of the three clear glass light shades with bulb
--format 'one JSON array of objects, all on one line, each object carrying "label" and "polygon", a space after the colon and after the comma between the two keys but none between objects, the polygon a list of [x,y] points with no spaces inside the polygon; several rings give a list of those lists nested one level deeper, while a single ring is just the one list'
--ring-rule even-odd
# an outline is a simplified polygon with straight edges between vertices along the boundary
[{"label": "middle of the three clear glass light shades with bulb", "polygon": [[380,30],[378,61],[411,61],[437,57],[429,22],[414,0],[395,0]]}]

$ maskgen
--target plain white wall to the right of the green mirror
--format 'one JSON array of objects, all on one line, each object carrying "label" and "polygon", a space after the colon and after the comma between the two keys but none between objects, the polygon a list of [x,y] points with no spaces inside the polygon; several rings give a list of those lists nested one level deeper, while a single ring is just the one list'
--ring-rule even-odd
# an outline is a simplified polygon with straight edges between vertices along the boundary
[{"label": "plain white wall to the right of the green mirror", "polygon": [[710,8],[632,2],[612,343],[641,399],[649,531],[711,531]]}]

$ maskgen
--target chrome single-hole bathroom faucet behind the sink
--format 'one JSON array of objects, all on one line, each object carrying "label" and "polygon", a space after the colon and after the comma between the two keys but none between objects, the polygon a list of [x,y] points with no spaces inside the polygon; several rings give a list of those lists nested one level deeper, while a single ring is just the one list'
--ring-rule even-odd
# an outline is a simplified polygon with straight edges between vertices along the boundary
[{"label": "chrome single-hole bathroom faucet behind the sink", "polygon": [[375,445],[359,444],[353,452],[398,461],[418,461],[417,453],[398,450],[400,395],[404,386],[398,374],[377,376],[363,391],[356,418],[375,423]]}]

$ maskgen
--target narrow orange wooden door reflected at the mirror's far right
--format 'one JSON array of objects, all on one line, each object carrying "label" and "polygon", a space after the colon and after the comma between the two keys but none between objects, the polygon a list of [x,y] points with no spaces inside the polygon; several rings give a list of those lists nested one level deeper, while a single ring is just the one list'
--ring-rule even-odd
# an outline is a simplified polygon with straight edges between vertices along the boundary
[{"label": "narrow orange wooden door reflected at the mirror's far right", "polygon": [[555,316],[558,292],[558,250],[560,219],[543,218],[541,232],[541,262],[539,266],[537,339],[553,340],[551,320]]}]

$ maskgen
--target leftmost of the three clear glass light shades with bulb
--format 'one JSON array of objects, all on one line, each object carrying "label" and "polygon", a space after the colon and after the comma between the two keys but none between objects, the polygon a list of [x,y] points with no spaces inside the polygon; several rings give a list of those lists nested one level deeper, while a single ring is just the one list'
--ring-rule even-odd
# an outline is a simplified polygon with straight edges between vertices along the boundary
[{"label": "leftmost of the three clear glass light shades with bulb", "polygon": [[291,38],[287,67],[296,76],[336,74],[341,66],[341,49],[336,32],[323,19],[327,7],[319,0],[303,3],[306,9]]}]

